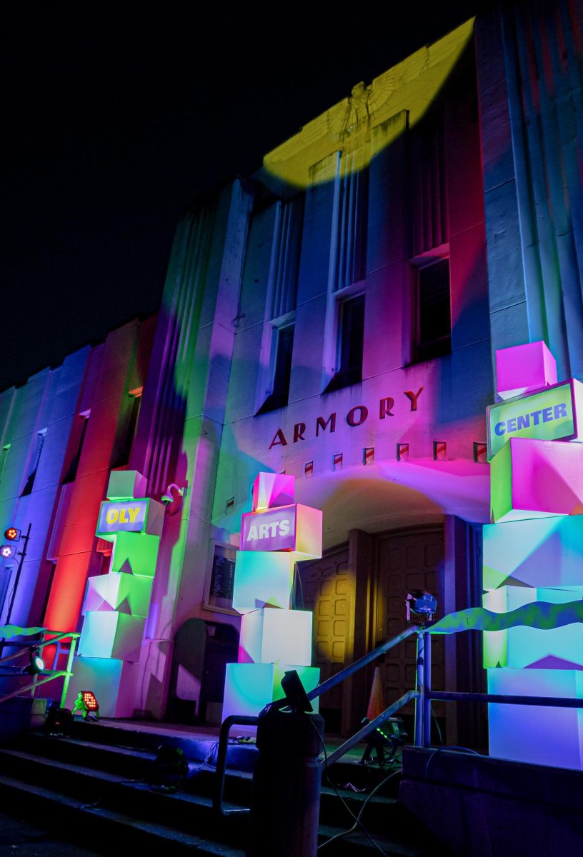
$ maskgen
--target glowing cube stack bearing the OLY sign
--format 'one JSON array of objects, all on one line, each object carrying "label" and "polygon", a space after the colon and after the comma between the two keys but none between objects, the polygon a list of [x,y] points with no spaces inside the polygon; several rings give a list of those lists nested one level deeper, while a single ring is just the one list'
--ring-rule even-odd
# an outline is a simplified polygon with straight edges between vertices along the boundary
[{"label": "glowing cube stack bearing the OLY sign", "polygon": [[109,572],[89,578],[78,656],[68,704],[92,690],[102,716],[134,713],[141,641],[152,596],[164,506],[144,498],[135,470],[114,470],[101,504],[96,535],[112,542]]}]

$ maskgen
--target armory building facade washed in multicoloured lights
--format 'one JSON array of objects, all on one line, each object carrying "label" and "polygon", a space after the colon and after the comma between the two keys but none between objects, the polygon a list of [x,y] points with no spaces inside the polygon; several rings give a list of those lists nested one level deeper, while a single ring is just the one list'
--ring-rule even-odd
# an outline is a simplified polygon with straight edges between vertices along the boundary
[{"label": "armory building facade washed in multicoloured lights", "polygon": [[[217,568],[260,470],[323,511],[295,590],[322,678],[403,629],[408,590],[480,603],[493,354],[544,339],[560,379],[583,375],[580,19],[568,0],[491,11],[354,87],[183,217],[155,320],[2,394],[3,521],[32,524],[11,620],[81,627],[111,470],[171,499],[129,716],[219,719],[238,618]],[[482,686],[462,637],[435,646],[437,688]],[[386,658],[388,701],[414,662]],[[328,728],[369,692],[322,698]]]}]

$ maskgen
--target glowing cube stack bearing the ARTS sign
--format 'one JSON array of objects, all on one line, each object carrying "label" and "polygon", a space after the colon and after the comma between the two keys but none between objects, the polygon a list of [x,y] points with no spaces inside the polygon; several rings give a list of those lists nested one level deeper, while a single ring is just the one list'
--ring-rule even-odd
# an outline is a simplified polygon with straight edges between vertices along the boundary
[{"label": "glowing cube stack bearing the ARTS sign", "polygon": [[283,697],[281,679],[297,669],[306,690],[311,667],[312,614],[289,608],[294,566],[322,556],[322,512],[294,503],[294,477],[260,473],[253,511],[243,514],[235,565],[233,607],[242,615],[239,657],[227,664],[223,720],[256,715]]}]

